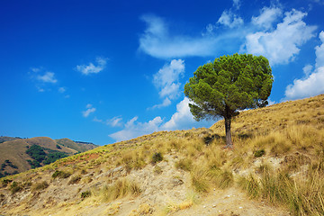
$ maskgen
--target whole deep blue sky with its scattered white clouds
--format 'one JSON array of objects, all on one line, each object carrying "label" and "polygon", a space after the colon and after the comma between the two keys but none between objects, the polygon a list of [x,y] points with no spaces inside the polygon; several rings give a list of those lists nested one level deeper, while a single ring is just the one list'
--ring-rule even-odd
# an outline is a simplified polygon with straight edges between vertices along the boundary
[{"label": "whole deep blue sky with its scattered white clouds", "polygon": [[270,103],[324,93],[324,1],[1,1],[0,135],[99,145],[194,121],[184,84],[223,55],[270,60]]}]

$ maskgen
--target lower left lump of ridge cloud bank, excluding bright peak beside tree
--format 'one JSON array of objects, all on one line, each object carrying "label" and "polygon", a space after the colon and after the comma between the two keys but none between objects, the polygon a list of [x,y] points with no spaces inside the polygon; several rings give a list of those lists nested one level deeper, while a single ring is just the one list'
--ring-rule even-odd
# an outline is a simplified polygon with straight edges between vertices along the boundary
[{"label": "lower left lump of ridge cloud bank, excluding bright peak beside tree", "polygon": [[109,135],[116,141],[122,141],[127,139],[133,139],[145,134],[152,133],[159,130],[159,125],[162,123],[161,117],[157,116],[148,122],[137,122],[138,117],[135,116],[125,124],[125,128],[118,132]]}]

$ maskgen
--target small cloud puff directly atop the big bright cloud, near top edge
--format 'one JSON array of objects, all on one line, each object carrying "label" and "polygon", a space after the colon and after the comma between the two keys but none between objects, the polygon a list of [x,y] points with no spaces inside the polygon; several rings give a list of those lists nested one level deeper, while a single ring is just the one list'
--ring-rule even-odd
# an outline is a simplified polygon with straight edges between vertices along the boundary
[{"label": "small cloud puff directly atop the big bright cloud, near top edge", "polygon": [[264,7],[259,16],[252,16],[254,25],[265,28],[266,30],[273,28],[273,23],[283,14],[283,10],[279,7]]}]

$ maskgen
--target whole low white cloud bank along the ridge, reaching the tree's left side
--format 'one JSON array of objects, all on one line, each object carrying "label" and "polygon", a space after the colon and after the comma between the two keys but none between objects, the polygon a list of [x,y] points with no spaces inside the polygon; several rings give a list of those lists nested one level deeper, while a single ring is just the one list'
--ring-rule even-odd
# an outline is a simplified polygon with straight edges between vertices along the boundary
[{"label": "whole low white cloud bank along the ridge, reaching the tree's left side", "polygon": [[164,121],[160,116],[157,116],[148,122],[138,122],[139,118],[135,116],[124,125],[123,130],[109,136],[116,141],[121,141],[160,130],[188,130],[193,127],[211,127],[214,121],[195,121],[193,119],[188,103],[190,103],[189,99],[184,97],[184,100],[176,105],[176,112],[168,121]]}]

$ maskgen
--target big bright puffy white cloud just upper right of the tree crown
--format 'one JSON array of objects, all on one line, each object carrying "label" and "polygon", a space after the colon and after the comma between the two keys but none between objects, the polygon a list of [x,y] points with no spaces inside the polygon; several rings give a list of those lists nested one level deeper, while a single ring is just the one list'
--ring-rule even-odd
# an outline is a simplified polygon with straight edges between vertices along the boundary
[{"label": "big bright puffy white cloud just upper right of the tree crown", "polygon": [[247,34],[245,45],[248,53],[263,55],[271,64],[287,64],[293,60],[302,44],[314,37],[316,27],[302,21],[306,13],[293,9],[284,15],[283,23],[278,23],[275,31]]}]

